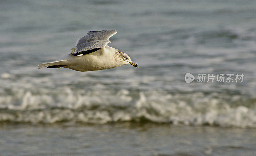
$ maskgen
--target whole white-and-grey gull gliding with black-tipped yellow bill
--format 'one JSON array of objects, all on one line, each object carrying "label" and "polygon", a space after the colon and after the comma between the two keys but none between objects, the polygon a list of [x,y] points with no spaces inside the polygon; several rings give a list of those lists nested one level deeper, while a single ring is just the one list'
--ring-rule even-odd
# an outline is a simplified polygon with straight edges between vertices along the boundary
[{"label": "whole white-and-grey gull gliding with black-tipped yellow bill", "polygon": [[68,55],[56,61],[41,63],[38,69],[64,67],[75,71],[98,71],[124,64],[139,68],[123,51],[108,46],[108,39],[114,34],[116,30],[89,31],[76,41]]}]

